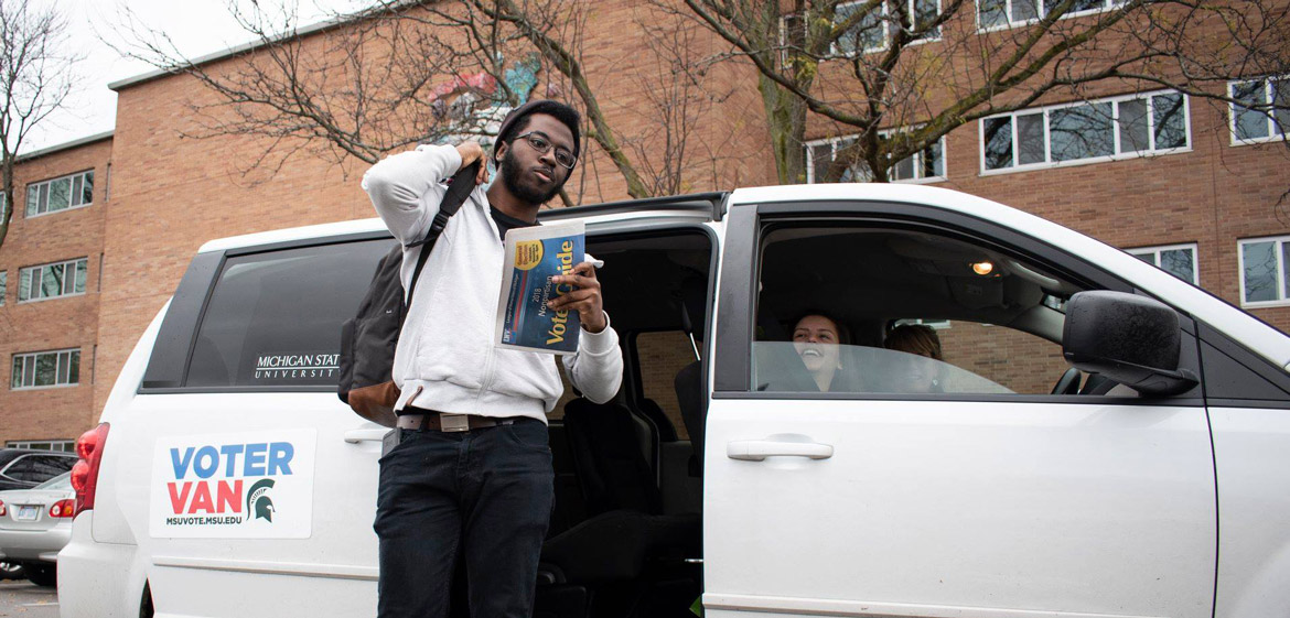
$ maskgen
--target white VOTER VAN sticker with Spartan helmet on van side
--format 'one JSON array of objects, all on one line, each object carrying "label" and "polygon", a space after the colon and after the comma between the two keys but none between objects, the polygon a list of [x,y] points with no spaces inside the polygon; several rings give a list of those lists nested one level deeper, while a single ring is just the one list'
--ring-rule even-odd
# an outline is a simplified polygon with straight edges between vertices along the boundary
[{"label": "white VOTER VAN sticker with Spartan helmet on van side", "polygon": [[157,538],[308,538],[313,430],[163,437],[148,532]]}]

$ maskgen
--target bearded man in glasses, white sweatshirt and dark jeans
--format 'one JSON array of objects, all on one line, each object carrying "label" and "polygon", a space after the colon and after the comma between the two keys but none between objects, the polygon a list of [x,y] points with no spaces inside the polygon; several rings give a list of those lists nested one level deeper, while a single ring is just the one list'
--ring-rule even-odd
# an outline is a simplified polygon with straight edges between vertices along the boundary
[{"label": "bearded man in glasses, white sweatshirt and dark jeans", "polygon": [[[476,187],[449,219],[422,272],[395,352],[401,443],[381,461],[381,618],[448,615],[454,563],[466,561],[473,618],[528,618],[553,498],[546,413],[562,394],[550,355],[497,348],[494,316],[507,230],[537,224],[538,209],[578,161],[579,117],[533,101],[498,132],[498,179]],[[439,209],[441,181],[482,161],[476,142],[419,146],[362,178],[381,218],[405,246]],[[488,175],[480,166],[476,183]],[[421,248],[405,249],[404,289]],[[551,302],[579,312],[578,351],[562,357],[592,401],[618,392],[623,359],[602,310],[595,268],[583,262],[556,283],[577,289]]]}]

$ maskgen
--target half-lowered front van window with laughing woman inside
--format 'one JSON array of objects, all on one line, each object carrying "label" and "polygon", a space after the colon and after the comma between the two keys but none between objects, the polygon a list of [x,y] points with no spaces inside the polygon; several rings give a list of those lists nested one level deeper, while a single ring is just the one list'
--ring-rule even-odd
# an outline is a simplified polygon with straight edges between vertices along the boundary
[{"label": "half-lowered front van window with laughing woman inside", "polygon": [[[753,387],[768,392],[1049,395],[1081,288],[948,232],[780,227],[764,237]],[[1071,381],[1075,381],[1072,384]]]}]

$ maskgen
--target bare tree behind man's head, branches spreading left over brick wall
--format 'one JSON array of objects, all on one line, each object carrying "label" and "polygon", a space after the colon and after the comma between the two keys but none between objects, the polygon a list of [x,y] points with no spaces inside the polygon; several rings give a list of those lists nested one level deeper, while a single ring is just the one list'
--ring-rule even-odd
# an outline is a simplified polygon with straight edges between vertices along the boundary
[{"label": "bare tree behind man's head, branches spreading left over brick wall", "polygon": [[[128,57],[205,86],[210,95],[188,103],[200,128],[184,135],[262,138],[261,155],[243,170],[257,170],[261,179],[302,152],[346,165],[374,163],[419,142],[486,138],[506,110],[529,97],[547,97],[578,103],[590,145],[623,178],[628,195],[684,187],[682,175],[697,174],[694,165],[682,164],[695,147],[690,129],[717,95],[699,92],[697,81],[654,89],[648,102],[660,110],[664,146],[651,145],[653,130],[624,141],[584,68],[587,6],[575,0],[377,0],[360,13],[301,28],[289,5],[254,3],[244,10],[230,3],[250,41],[228,58],[187,58],[165,34],[129,12],[120,19],[124,40],[110,43]],[[682,26],[673,19],[671,27]],[[658,62],[676,65],[685,53],[676,45],[685,41],[668,39],[664,25],[653,25],[653,31]],[[673,46],[662,49],[663,41]],[[715,157],[706,160],[716,165]],[[590,169],[580,166],[579,188],[596,182]],[[646,170],[644,177],[639,169]],[[562,197],[565,204],[582,199]]]}]

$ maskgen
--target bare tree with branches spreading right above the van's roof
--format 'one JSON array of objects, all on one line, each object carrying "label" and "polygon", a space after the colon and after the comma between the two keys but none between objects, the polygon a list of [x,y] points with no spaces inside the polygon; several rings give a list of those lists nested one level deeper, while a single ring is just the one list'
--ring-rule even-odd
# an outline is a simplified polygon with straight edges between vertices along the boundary
[{"label": "bare tree with branches spreading right above the van's roof", "polygon": [[1054,97],[1121,83],[1240,103],[1228,81],[1290,70],[1284,0],[658,1],[730,45],[713,61],[756,68],[782,183],[806,179],[809,123],[851,135],[826,179],[885,182],[955,128]]}]

